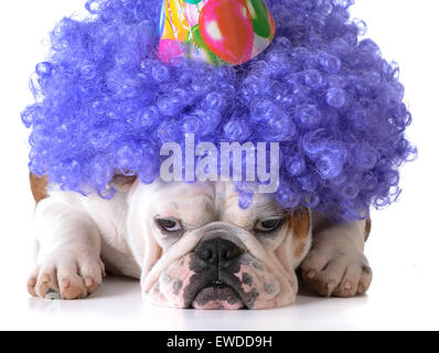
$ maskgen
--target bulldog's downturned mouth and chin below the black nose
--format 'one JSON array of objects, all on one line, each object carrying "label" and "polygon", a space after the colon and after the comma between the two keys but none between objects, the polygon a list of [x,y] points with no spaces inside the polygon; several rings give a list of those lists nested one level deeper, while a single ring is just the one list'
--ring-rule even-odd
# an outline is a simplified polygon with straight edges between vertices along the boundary
[{"label": "bulldog's downturned mouth and chin below the black nose", "polygon": [[194,309],[226,309],[237,310],[245,308],[244,300],[231,286],[220,280],[202,288],[192,301]]}]

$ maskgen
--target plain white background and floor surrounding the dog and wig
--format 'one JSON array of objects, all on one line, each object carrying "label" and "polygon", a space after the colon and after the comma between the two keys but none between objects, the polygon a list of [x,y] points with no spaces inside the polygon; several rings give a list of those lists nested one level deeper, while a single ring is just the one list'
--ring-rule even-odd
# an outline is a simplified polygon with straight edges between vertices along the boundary
[{"label": "plain white background and floor surrounding the dog and wig", "polygon": [[419,148],[419,159],[403,169],[400,201],[373,215],[366,254],[374,280],[367,296],[325,299],[301,293],[291,307],[264,311],[173,310],[142,303],[137,281],[111,278],[86,300],[30,298],[25,282],[32,263],[34,204],[26,170],[29,131],[19,114],[32,100],[28,78],[44,58],[49,31],[84,2],[0,4],[0,329],[439,329],[437,0],[357,0],[352,9],[353,17],[367,22],[367,35],[386,58],[401,66],[414,115],[408,137]]}]

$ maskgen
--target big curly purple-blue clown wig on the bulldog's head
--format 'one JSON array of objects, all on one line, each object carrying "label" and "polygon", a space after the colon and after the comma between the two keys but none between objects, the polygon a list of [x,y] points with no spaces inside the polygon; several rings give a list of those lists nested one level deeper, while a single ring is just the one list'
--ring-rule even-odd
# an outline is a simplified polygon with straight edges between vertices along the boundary
[{"label": "big curly purple-blue clown wig on the bulldog's head", "polygon": [[[240,66],[156,55],[160,0],[88,0],[63,19],[36,65],[36,103],[22,114],[30,169],[63,190],[104,194],[115,172],[144,183],[165,141],[279,141],[286,208],[363,218],[399,194],[398,167],[416,149],[398,68],[350,20],[352,0],[267,0],[272,44]],[[242,205],[250,194],[240,191]]]}]

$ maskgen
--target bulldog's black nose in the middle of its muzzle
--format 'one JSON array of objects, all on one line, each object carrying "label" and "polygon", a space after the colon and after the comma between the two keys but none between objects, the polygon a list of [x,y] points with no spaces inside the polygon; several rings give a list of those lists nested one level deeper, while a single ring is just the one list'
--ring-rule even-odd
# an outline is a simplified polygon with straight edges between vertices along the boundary
[{"label": "bulldog's black nose in the middle of its muzzle", "polygon": [[222,238],[202,242],[194,252],[202,260],[216,266],[227,266],[243,254],[235,244]]}]

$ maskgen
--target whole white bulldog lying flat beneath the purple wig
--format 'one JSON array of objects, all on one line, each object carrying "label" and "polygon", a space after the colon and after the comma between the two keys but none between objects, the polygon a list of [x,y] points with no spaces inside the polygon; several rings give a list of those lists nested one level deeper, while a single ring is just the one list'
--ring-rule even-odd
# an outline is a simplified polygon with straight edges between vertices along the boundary
[{"label": "whole white bulldog lying flat beneath the purple wig", "polygon": [[364,293],[371,221],[334,224],[256,194],[243,210],[228,182],[142,184],[116,176],[111,200],[65,192],[31,174],[38,240],[34,297],[79,299],[105,270],[140,279],[153,303],[195,309],[291,304],[300,274],[321,296]]}]

